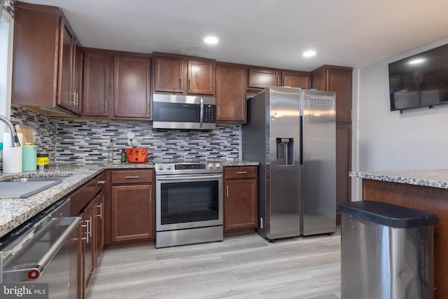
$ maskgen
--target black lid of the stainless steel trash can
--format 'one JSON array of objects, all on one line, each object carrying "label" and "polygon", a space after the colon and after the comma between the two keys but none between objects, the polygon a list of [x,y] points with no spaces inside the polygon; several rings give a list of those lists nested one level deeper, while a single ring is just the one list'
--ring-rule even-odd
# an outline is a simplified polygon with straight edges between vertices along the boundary
[{"label": "black lid of the stainless steel trash can", "polygon": [[353,217],[392,228],[415,228],[439,223],[436,214],[387,202],[343,202],[339,204],[339,210]]}]

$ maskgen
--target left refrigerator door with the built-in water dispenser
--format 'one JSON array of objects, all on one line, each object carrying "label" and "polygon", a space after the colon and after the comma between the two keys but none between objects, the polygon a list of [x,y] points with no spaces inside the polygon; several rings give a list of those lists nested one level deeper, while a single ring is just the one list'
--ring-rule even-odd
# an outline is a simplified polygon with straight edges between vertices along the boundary
[{"label": "left refrigerator door with the built-in water dispenser", "polygon": [[269,88],[269,239],[300,235],[299,92],[293,88]]}]

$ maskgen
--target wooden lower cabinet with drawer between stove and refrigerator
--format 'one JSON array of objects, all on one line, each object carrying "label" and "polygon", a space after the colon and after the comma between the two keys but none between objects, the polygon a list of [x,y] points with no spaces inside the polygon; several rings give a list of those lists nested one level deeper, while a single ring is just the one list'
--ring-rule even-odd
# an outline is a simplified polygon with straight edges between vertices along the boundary
[{"label": "wooden lower cabinet with drawer between stove and refrigerator", "polygon": [[258,167],[225,167],[223,197],[225,235],[254,232],[258,227]]}]

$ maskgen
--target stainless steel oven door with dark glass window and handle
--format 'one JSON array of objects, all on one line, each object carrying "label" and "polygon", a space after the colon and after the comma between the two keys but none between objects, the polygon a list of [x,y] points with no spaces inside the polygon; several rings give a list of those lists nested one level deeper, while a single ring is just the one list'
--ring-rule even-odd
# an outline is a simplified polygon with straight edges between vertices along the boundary
[{"label": "stainless steel oven door with dark glass window and handle", "polygon": [[156,230],[223,225],[223,175],[156,176]]}]

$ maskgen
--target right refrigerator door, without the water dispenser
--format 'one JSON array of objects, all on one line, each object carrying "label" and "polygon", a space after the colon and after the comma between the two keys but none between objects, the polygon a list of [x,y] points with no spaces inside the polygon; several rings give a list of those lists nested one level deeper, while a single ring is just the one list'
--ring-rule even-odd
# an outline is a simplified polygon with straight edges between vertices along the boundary
[{"label": "right refrigerator door, without the water dispenser", "polygon": [[302,93],[302,235],[336,230],[335,98],[335,92]]}]

